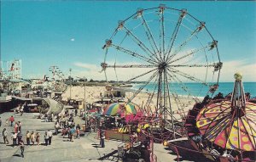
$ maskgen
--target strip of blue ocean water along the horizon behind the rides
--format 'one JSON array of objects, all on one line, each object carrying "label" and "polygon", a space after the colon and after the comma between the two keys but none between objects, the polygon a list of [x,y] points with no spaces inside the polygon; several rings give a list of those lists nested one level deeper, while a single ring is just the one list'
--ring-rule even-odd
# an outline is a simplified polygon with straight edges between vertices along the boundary
[{"label": "strip of blue ocean water along the horizon behind the rides", "polygon": [[[187,96],[190,94],[197,97],[204,97],[207,94],[211,94],[207,93],[209,89],[207,87],[202,87],[200,83],[183,83],[183,85],[187,87],[189,91],[184,91],[178,83],[172,83],[170,84],[170,92],[175,92],[177,95]],[[234,88],[234,82],[219,82],[218,85],[218,90],[214,92],[213,96],[218,94],[218,92],[222,92],[224,95],[227,95],[232,92]],[[142,86],[143,84],[135,84],[132,88],[138,89]],[[153,83],[149,83],[143,88],[143,91],[153,92],[154,87],[155,85]],[[256,82],[243,82],[243,87],[245,92],[249,92],[251,94],[251,98],[256,97]]]}]

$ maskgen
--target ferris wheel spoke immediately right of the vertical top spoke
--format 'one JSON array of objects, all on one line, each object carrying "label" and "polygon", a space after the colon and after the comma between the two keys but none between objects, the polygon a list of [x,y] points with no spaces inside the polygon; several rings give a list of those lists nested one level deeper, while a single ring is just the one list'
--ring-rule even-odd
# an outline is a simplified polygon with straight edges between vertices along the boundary
[{"label": "ferris wheel spoke immediately right of the vertical top spoke", "polygon": [[185,14],[187,14],[187,11],[186,11],[185,9],[183,9],[183,10],[181,11],[181,14],[180,14],[178,20],[177,20],[177,24],[176,24],[176,26],[175,26],[175,29],[174,29],[174,31],[172,32],[172,37],[171,37],[170,43],[169,43],[169,45],[168,45],[168,47],[167,47],[166,59],[169,58],[169,55],[170,55],[170,53],[172,52],[173,44],[174,44],[174,42],[175,42],[175,40],[176,40],[177,33],[178,33],[178,31],[179,31],[180,25],[181,25],[181,23],[182,23],[182,21],[183,21],[183,17],[185,16]]}]

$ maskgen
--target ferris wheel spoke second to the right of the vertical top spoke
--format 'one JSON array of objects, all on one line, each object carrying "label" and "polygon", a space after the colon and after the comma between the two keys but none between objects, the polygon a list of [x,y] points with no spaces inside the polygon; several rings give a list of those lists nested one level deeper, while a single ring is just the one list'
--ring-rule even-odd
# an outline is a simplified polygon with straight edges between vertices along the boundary
[{"label": "ferris wheel spoke second to the right of the vertical top spoke", "polygon": [[173,57],[175,57],[177,55],[177,53],[179,53],[183,47],[185,47],[185,45],[187,45],[187,43],[194,37],[196,36],[200,31],[202,31],[202,29],[205,27],[205,23],[201,22],[201,25],[199,27],[197,27],[195,29],[195,31],[193,31],[191,33],[191,35],[183,42],[181,43],[178,47],[177,50],[174,51],[174,53],[172,53],[171,55],[169,55],[169,57],[166,59],[167,62],[170,61],[170,59],[172,59]]}]

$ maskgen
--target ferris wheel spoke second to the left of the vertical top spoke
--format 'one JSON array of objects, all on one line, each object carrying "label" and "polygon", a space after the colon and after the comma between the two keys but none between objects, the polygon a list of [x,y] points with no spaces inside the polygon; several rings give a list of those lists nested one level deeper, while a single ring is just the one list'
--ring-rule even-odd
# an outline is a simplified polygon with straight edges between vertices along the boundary
[{"label": "ferris wheel spoke second to the left of the vertical top spoke", "polygon": [[146,45],[137,37],[135,36],[131,30],[129,30],[128,28],[125,27],[125,25],[123,25],[126,33],[128,36],[131,37],[131,40],[133,40],[134,42],[137,43],[138,47],[140,47],[144,53],[146,53],[148,55],[149,58],[154,58],[154,62],[156,62],[157,60],[157,56],[156,56],[156,53],[152,53],[148,47],[146,47]]}]

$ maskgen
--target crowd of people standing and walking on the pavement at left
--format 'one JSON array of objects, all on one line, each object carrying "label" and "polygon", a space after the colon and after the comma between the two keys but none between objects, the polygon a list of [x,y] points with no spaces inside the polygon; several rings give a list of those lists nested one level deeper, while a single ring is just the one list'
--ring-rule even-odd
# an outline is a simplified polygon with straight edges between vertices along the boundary
[{"label": "crowd of people standing and walking on the pavement at left", "polygon": [[[17,113],[20,113],[20,111],[15,111],[15,115]],[[50,129],[44,132],[24,130],[22,129],[22,123],[15,120],[15,115],[11,115],[8,119],[5,120],[5,125],[2,131],[3,144],[6,144],[13,148],[20,146],[21,157],[24,157],[25,146],[51,145],[53,135],[59,135],[60,132],[61,136],[67,136],[71,142],[74,141],[73,138],[75,135],[78,139],[80,138],[81,126],[79,124],[76,125],[73,119],[74,116],[78,115],[77,109],[71,111],[69,114],[67,111],[66,115],[63,118],[54,115],[53,113],[50,115],[44,115],[44,121],[54,122],[55,133],[53,133],[53,131],[51,131]],[[9,130],[11,130],[9,129],[9,126],[13,127],[13,131],[9,132]],[[0,117],[0,128],[1,127],[2,118]]]}]

